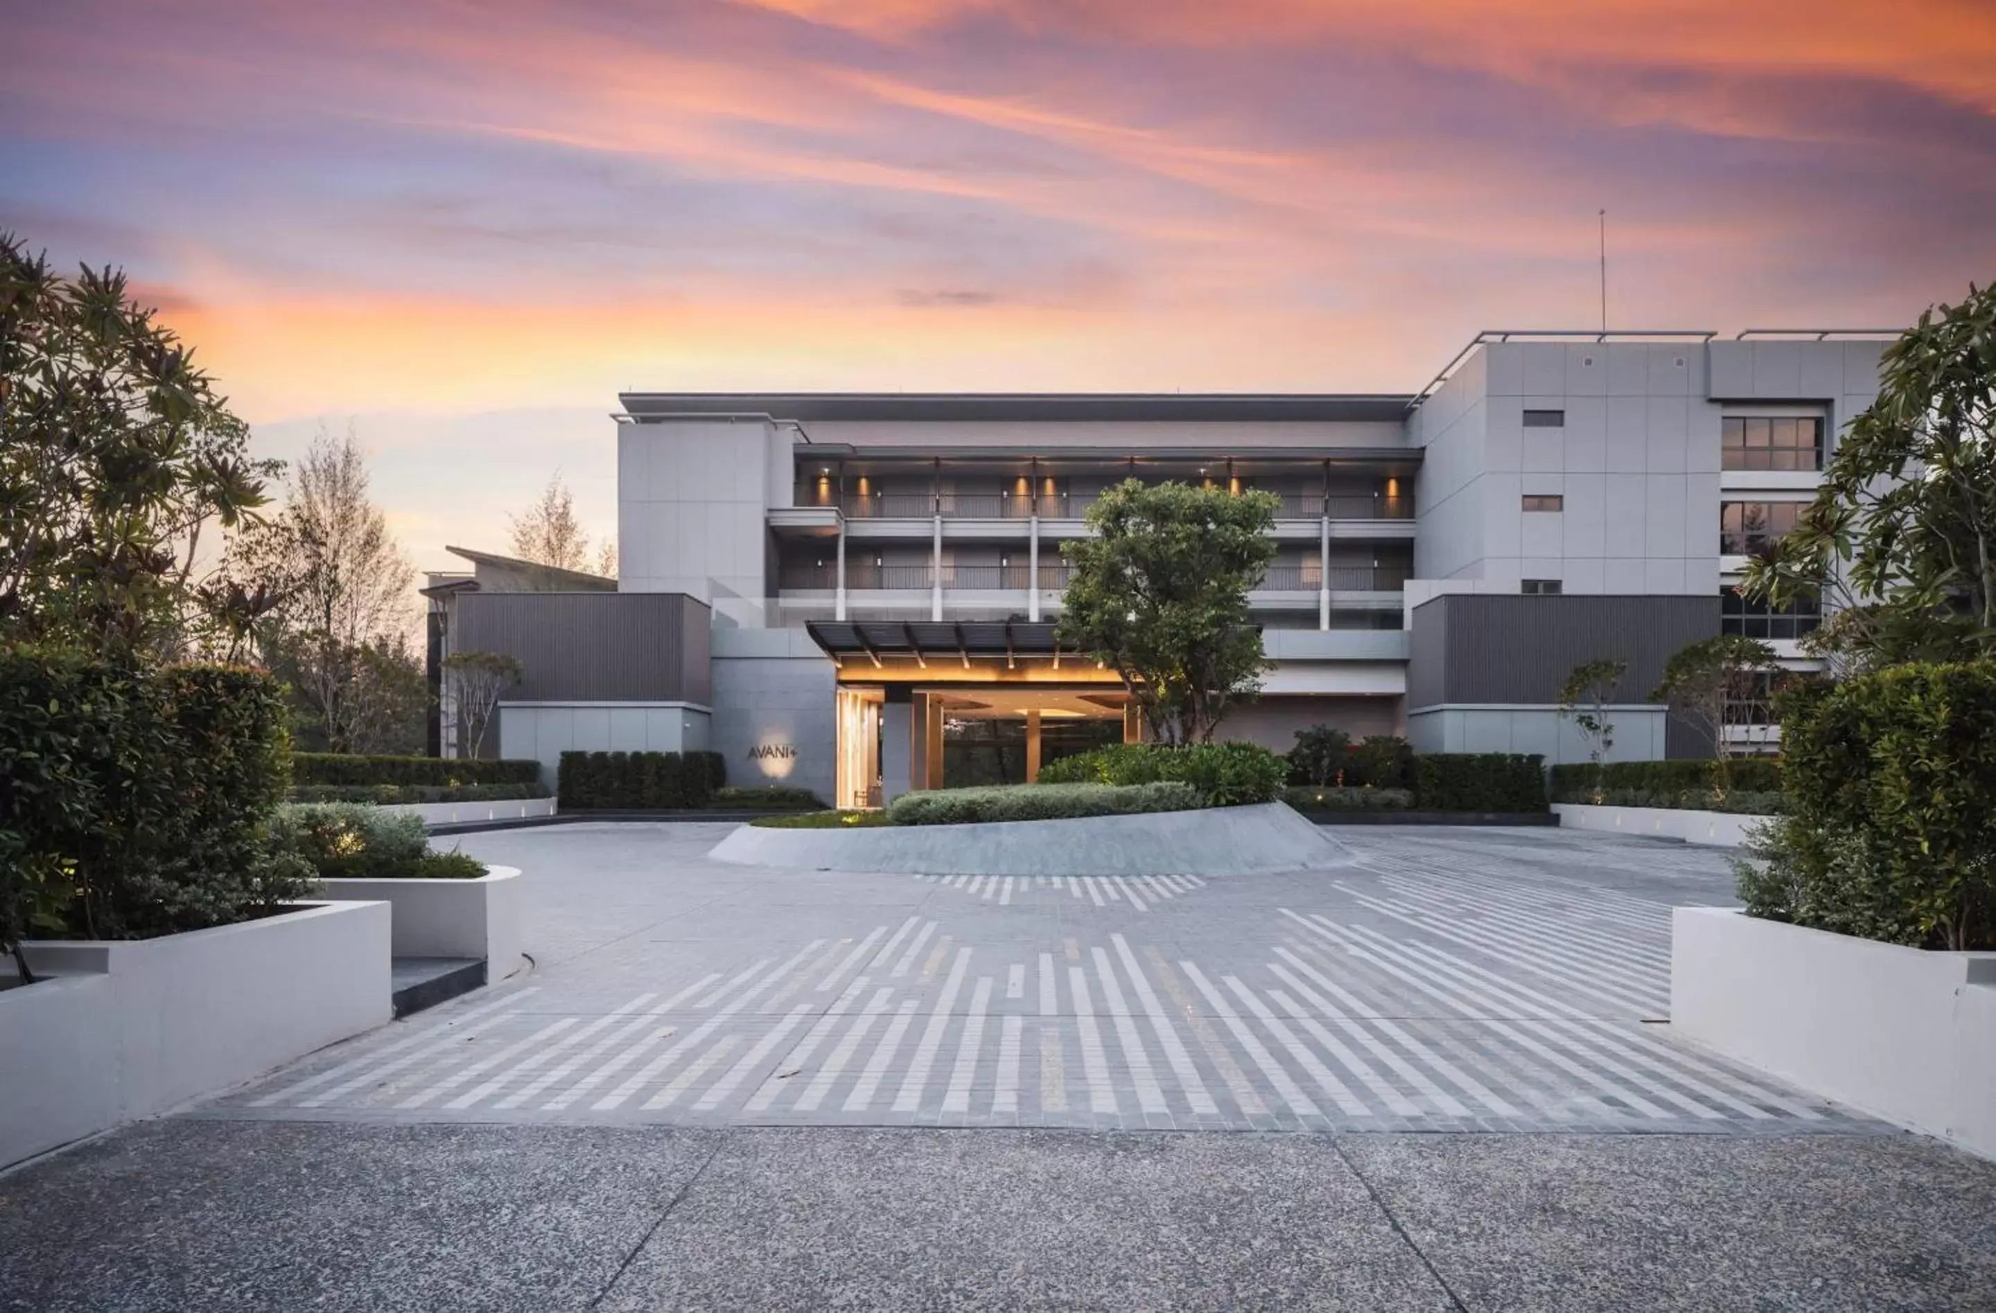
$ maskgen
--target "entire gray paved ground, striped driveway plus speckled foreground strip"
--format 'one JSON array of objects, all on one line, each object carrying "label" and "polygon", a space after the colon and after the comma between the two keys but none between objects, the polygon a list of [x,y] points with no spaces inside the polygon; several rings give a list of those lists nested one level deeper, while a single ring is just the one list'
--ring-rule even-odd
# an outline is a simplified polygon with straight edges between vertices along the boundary
[{"label": "entire gray paved ground, striped driveway plus speckled foreground strip", "polygon": [[723,830],[465,838],[533,970],[0,1177],[0,1309],[1996,1309],[1996,1165],[1671,1042],[1715,852],[1004,882]]}]

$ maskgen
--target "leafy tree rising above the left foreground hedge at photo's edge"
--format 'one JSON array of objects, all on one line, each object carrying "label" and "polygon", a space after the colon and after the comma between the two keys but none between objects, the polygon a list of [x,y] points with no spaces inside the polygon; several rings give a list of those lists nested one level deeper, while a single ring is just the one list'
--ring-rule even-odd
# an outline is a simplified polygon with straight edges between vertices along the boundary
[{"label": "leafy tree rising above the left foreground hedge at photo's edge", "polygon": [[0,635],[182,656],[214,603],[273,605],[216,569],[281,469],[248,451],[122,271],[64,279],[0,233]]}]

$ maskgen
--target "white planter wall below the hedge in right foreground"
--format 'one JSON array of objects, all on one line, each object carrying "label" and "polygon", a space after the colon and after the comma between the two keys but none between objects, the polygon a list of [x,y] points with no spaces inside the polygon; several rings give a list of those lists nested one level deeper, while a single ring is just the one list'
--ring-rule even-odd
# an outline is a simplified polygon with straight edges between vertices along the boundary
[{"label": "white planter wall below the hedge in right foreground", "polygon": [[1996,952],[1677,908],[1671,1032],[1996,1159]]}]

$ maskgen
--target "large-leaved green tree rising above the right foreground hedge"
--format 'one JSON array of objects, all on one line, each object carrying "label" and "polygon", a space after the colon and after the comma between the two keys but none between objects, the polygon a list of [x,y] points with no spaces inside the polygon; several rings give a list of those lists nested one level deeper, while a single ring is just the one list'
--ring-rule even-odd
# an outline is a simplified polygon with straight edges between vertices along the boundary
[{"label": "large-leaved green tree rising above the right foreground hedge", "polygon": [[1741,593],[1822,599],[1838,621],[1814,647],[1856,668],[1996,651],[1996,285],[1884,349],[1878,399]]}]

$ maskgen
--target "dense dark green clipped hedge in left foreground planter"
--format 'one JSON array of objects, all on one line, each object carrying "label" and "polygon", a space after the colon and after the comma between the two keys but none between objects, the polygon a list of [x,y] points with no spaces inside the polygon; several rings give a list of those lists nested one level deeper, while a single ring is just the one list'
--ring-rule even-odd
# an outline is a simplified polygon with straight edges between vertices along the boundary
[{"label": "dense dark green clipped hedge in left foreground planter", "polygon": [[259,670],[0,651],[0,950],[146,938],[311,892],[269,846],[289,744]]}]

